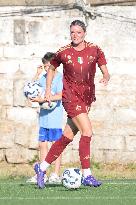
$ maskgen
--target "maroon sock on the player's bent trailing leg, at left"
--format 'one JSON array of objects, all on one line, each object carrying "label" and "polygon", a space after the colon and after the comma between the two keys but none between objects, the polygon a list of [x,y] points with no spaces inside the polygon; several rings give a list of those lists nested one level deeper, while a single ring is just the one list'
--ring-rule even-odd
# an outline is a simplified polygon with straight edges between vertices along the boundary
[{"label": "maroon sock on the player's bent trailing leg, at left", "polygon": [[45,161],[49,164],[54,162],[70,142],[72,142],[72,140],[62,135],[62,137],[51,146]]}]

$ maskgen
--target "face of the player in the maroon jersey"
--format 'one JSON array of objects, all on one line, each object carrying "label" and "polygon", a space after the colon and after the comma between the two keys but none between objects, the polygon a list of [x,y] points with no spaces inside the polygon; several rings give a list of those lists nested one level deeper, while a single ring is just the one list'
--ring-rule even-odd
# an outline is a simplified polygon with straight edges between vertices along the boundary
[{"label": "face of the player in the maroon jersey", "polygon": [[70,36],[73,44],[79,45],[84,41],[86,32],[81,26],[75,25],[70,28]]}]

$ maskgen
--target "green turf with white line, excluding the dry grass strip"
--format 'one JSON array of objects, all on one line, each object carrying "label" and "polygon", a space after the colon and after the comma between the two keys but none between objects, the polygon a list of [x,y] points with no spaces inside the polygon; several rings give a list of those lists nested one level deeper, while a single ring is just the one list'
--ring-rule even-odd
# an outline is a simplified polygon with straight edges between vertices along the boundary
[{"label": "green turf with white line, excluding the dry grass strip", "polygon": [[135,205],[136,180],[104,180],[99,188],[62,185],[38,189],[24,179],[0,180],[0,205]]}]

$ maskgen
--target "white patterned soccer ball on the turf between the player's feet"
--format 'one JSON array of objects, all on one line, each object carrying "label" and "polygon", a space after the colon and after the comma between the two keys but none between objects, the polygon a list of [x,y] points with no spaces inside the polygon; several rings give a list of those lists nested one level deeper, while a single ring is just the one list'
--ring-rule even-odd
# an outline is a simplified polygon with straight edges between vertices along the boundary
[{"label": "white patterned soccer ball on the turf between the player's feet", "polygon": [[77,189],[81,186],[82,172],[78,168],[68,168],[62,174],[62,184],[68,189]]}]

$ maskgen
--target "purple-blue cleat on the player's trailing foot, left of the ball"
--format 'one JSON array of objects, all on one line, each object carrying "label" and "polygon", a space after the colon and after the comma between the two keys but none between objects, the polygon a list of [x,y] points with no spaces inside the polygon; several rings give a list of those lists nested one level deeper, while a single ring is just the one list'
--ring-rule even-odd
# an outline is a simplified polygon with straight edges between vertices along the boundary
[{"label": "purple-blue cleat on the player's trailing foot, left of the ball", "polygon": [[37,185],[39,188],[43,189],[44,188],[44,175],[45,175],[45,172],[43,172],[41,169],[40,169],[40,164],[35,164],[34,166],[34,170],[35,170],[35,173],[37,174]]}]

